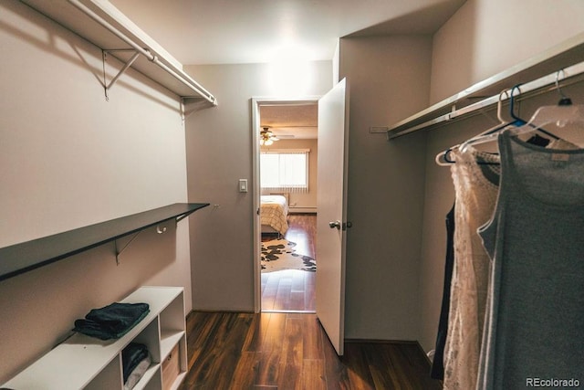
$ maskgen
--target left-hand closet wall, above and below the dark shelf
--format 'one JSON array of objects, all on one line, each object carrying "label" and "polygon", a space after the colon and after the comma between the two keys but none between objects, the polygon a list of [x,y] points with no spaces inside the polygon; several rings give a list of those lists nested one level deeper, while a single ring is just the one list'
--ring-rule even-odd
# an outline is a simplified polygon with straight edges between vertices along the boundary
[{"label": "left-hand closet wall, above and below the dark shelf", "polygon": [[[106,101],[100,49],[17,1],[0,4],[0,47],[0,247],[187,200],[176,96],[130,71]],[[183,286],[190,310],[189,226],[168,229],[120,266],[111,243],[1,281],[0,383],[142,284]]]}]

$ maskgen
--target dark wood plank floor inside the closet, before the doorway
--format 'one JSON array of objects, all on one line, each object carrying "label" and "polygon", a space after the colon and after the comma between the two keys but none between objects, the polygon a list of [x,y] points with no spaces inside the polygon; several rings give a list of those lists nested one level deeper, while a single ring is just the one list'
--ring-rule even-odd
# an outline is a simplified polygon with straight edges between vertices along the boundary
[{"label": "dark wood plank floor inside the closet, before the doorway", "polygon": [[346,343],[335,353],[315,314],[193,311],[187,389],[441,389],[414,343]]}]

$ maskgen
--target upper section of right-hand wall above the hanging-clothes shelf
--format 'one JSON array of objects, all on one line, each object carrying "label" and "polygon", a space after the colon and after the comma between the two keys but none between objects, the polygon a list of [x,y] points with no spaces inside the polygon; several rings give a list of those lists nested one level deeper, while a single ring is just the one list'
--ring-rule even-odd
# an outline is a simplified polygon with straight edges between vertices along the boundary
[{"label": "upper section of right-hand wall above the hanging-clothes shelf", "polygon": [[433,37],[431,103],[581,33],[581,0],[467,0]]}]

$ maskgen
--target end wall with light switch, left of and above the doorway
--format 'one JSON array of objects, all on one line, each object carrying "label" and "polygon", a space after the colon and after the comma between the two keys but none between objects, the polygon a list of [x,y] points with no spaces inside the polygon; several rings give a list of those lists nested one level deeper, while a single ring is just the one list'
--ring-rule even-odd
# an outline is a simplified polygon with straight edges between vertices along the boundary
[{"label": "end wall with light switch, left of and above the doorway", "polygon": [[237,185],[239,179],[247,179],[252,188],[251,98],[322,95],[332,87],[331,63],[186,66],[185,70],[219,101],[216,108],[186,120],[189,200],[212,204],[190,220],[193,307],[253,311],[253,193],[239,193]]}]

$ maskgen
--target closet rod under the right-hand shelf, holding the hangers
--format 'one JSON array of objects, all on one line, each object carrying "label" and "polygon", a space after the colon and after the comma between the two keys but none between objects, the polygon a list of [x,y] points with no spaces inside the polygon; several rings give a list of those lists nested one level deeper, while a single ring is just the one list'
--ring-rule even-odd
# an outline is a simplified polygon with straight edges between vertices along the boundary
[{"label": "closet rod under the right-hand shelf, holding the hangers", "polygon": [[[558,80],[558,72],[564,73],[565,76],[563,79]],[[526,97],[527,95],[528,96],[536,96],[537,94],[545,93],[549,90],[543,90],[543,89],[545,89],[546,87],[549,87],[549,86],[554,86],[553,89],[556,89],[556,83],[558,81],[560,83],[563,83],[563,85],[568,85],[568,84],[571,84],[573,82],[581,81],[581,79],[577,79],[573,82],[564,82],[568,79],[573,79],[576,76],[584,74],[584,62],[580,62],[579,64],[572,65],[571,67],[568,67],[566,69],[559,69],[558,72],[549,74],[549,75],[544,76],[544,77],[539,78],[539,79],[535,79],[533,81],[529,81],[525,84],[520,84],[519,85],[520,94],[517,95],[515,97],[515,99],[520,100],[522,97]],[[511,90],[511,87],[508,90]],[[552,89],[550,89],[550,90],[552,90]],[[412,126],[412,127],[408,128],[406,130],[403,130],[401,132],[391,132],[391,130],[390,130],[387,132],[387,139],[388,139],[388,141],[393,140],[394,138],[401,137],[402,135],[408,134],[410,132],[416,132],[418,130],[426,129],[426,128],[429,128],[431,126],[435,126],[435,125],[439,125],[439,124],[447,124],[446,122],[452,121],[454,119],[463,119],[462,117],[469,117],[472,114],[477,113],[476,111],[483,110],[489,106],[495,106],[495,104],[498,103],[499,99],[507,100],[507,99],[509,99],[509,97],[506,96],[506,97],[499,98],[499,95],[491,96],[490,98],[486,98],[485,100],[477,101],[473,104],[470,104],[470,105],[465,106],[465,107],[458,109],[458,110],[456,110],[453,106],[453,111],[450,111],[450,112],[445,113],[439,117],[436,117],[433,120],[424,121],[423,123]]]}]

